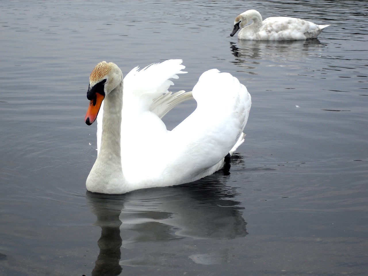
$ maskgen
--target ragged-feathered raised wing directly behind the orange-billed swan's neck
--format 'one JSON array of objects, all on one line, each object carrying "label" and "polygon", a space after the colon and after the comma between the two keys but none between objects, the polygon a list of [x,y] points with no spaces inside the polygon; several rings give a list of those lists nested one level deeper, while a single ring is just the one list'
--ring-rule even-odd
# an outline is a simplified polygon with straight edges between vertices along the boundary
[{"label": "ragged-feathered raised wing directly behind the orange-billed swan's neck", "polygon": [[[122,145],[133,141],[137,145],[140,142],[139,146],[148,145],[142,141],[145,133],[150,135],[151,141],[163,139],[162,135],[167,130],[161,117],[178,103],[191,98],[191,94],[185,96],[185,93],[178,92],[171,95],[167,90],[174,84],[170,79],[177,79],[177,74],[186,73],[181,71],[185,68],[181,63],[182,60],[166,60],[142,70],[136,67],[124,78]],[[130,131],[129,137],[124,133],[126,131]]]}]

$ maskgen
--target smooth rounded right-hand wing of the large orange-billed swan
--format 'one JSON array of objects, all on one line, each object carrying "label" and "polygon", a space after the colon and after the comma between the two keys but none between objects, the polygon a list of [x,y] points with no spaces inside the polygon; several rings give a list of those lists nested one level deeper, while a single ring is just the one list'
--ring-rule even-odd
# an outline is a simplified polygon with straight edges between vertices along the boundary
[{"label": "smooth rounded right-hand wing of the large orange-billed swan", "polygon": [[183,183],[220,169],[223,158],[244,141],[251,108],[247,88],[216,69],[204,72],[192,93],[197,108],[170,132],[165,155],[167,173],[181,171]]}]

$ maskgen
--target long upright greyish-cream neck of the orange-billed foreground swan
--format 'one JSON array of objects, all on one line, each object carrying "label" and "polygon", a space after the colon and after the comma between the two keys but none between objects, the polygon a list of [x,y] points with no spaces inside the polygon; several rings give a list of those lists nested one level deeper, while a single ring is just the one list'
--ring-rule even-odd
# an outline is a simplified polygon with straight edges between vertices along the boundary
[{"label": "long upright greyish-cream neck of the orange-billed foreground swan", "polygon": [[124,183],[121,169],[121,109],[123,81],[106,95],[103,105],[101,146],[86,181],[89,191],[121,193]]}]

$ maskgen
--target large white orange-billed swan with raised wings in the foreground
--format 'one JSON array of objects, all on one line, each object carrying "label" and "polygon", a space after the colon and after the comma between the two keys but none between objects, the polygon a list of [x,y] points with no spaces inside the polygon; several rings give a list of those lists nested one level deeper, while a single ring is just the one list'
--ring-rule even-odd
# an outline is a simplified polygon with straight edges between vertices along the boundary
[{"label": "large white orange-billed swan with raised wings in the foreground", "polygon": [[[93,69],[85,122],[91,125],[99,113],[98,156],[87,190],[123,194],[189,183],[221,169],[225,156],[243,143],[251,108],[247,88],[229,73],[212,69],[201,75],[192,92],[172,94],[167,91],[173,85],[169,79],[185,73],[181,63],[166,60],[140,71],[136,67],[124,85],[116,64],[103,61]],[[161,118],[193,98],[194,112],[168,131]]]}]

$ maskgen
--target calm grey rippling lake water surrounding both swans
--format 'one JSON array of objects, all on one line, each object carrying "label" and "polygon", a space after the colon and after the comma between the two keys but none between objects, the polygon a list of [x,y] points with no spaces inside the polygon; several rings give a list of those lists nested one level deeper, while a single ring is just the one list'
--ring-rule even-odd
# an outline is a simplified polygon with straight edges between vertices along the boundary
[{"label": "calm grey rippling lake water surrounding both swans", "polygon": [[[310,41],[231,38],[248,9],[331,26]],[[15,0],[0,10],[0,275],[367,273],[368,1]],[[86,192],[90,72],[102,60],[126,74],[172,58],[188,71],[173,91],[210,68],[250,91],[230,170]]]}]

